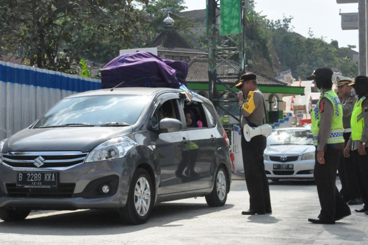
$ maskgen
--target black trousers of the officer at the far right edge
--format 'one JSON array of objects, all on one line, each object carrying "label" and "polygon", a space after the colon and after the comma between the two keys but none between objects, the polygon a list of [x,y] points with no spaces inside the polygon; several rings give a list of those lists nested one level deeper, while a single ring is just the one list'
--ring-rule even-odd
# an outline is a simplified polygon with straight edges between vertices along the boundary
[{"label": "black trousers of the officer at the far right edge", "polygon": [[[365,147],[368,152],[368,147]],[[368,208],[368,155],[359,155],[358,150],[352,152],[353,161],[358,165],[358,183],[361,191],[364,207]]]}]

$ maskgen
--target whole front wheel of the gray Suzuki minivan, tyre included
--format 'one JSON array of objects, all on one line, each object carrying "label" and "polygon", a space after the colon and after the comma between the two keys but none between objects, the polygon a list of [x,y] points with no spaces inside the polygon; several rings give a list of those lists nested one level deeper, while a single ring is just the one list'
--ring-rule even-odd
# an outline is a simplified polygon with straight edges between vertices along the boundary
[{"label": "whole front wheel of the gray Suzuki minivan, tyre included", "polygon": [[154,187],[145,169],[137,168],[130,184],[127,203],[119,215],[127,224],[144,224],[151,214],[154,203]]}]

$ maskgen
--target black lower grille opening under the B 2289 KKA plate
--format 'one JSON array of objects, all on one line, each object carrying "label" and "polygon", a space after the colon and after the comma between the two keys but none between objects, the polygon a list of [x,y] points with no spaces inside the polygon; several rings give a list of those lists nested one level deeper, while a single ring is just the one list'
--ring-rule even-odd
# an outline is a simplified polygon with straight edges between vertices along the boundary
[{"label": "black lower grille opening under the B 2289 KKA plate", "polygon": [[72,197],[75,183],[59,183],[57,188],[25,188],[6,184],[9,197]]}]

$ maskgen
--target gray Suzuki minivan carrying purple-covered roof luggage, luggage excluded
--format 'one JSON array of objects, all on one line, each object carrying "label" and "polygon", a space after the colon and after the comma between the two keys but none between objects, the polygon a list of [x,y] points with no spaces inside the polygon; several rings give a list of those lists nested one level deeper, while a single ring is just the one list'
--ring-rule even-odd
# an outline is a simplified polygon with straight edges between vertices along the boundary
[{"label": "gray Suzuki minivan carrying purple-covered roof luggage, luggage excluded", "polygon": [[[197,124],[187,126],[187,111]],[[155,203],[204,196],[222,206],[230,190],[229,139],[215,108],[179,89],[68,96],[1,141],[0,152],[4,221],[32,209],[106,208],[142,224]]]}]

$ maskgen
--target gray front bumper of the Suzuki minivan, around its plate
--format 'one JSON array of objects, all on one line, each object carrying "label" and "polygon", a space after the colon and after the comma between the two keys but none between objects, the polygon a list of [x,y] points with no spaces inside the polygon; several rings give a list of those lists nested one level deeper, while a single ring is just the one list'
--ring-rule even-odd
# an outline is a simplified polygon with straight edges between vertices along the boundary
[{"label": "gray front bumper of the Suzuki minivan, around its plate", "polygon": [[[132,169],[124,158],[79,163],[69,167],[24,168],[0,164],[0,208],[75,210],[125,206]],[[17,172],[57,172],[57,188],[25,188],[16,185]],[[100,188],[109,184],[110,192]],[[40,190],[43,189],[43,190]]]}]

